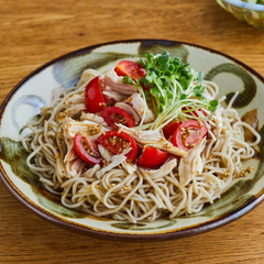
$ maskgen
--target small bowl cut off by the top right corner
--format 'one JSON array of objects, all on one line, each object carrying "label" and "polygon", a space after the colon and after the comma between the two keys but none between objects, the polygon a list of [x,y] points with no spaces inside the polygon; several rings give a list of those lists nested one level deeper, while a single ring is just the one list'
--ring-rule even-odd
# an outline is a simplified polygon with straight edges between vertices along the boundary
[{"label": "small bowl cut off by the top right corner", "polygon": [[248,3],[241,0],[217,0],[217,2],[237,19],[264,30],[264,4]]}]

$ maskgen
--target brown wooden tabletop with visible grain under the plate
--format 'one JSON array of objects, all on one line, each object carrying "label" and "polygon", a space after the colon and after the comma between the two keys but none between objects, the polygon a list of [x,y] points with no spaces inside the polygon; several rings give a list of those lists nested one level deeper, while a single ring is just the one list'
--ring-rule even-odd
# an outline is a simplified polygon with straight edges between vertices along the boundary
[{"label": "brown wooden tabletop with visible grain under the plate", "polygon": [[[195,43],[264,75],[264,32],[238,21],[213,0],[0,0],[0,102],[42,64],[118,40]],[[204,234],[111,242],[38,218],[0,182],[0,263],[264,263],[263,219],[264,204]]]}]

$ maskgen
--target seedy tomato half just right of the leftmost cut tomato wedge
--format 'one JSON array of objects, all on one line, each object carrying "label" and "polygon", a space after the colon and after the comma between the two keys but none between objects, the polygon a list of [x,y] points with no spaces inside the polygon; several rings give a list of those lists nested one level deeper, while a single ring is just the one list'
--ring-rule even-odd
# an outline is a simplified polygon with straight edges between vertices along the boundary
[{"label": "seedy tomato half just right of the leftmost cut tomato wedge", "polygon": [[129,147],[132,147],[132,150],[125,155],[128,162],[133,162],[138,154],[138,145],[135,140],[122,131],[108,131],[105,134],[101,134],[97,139],[97,142],[116,155],[121,154]]}]

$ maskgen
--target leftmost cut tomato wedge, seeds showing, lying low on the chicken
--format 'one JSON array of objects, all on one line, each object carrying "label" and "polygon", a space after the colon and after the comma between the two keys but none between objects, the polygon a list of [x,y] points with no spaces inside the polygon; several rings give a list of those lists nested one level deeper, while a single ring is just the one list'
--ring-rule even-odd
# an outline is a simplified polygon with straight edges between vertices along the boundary
[{"label": "leftmost cut tomato wedge, seeds showing, lying low on the chicken", "polygon": [[98,144],[96,141],[77,133],[75,134],[74,146],[75,151],[84,162],[92,165],[101,163],[101,155],[98,151]]}]

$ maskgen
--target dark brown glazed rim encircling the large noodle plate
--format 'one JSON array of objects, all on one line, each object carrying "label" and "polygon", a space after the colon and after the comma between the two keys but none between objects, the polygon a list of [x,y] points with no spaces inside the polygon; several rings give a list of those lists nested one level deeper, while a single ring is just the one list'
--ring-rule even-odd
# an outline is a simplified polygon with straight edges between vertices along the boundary
[{"label": "dark brown glazed rim encircling the large noodle plate", "polygon": [[[257,72],[255,72],[250,66],[243,64],[242,62],[233,58],[230,55],[227,55],[222,52],[218,52],[216,50],[205,47],[205,46],[201,46],[201,45],[197,45],[197,44],[193,44],[193,43],[188,43],[188,42],[161,40],[161,38],[132,38],[132,40],[124,40],[124,41],[106,42],[106,43],[100,43],[100,44],[96,44],[96,45],[86,46],[86,47],[66,53],[64,55],[61,55],[61,56],[43,64],[42,66],[40,66],[35,70],[33,70],[31,74],[25,76],[21,81],[18,82],[16,86],[14,86],[14,88],[8,94],[8,96],[6,97],[3,102],[1,103],[1,106],[0,106],[0,127],[1,127],[2,116],[4,113],[4,109],[8,106],[12,96],[30,78],[32,78],[36,74],[41,73],[42,70],[44,70],[48,66],[51,66],[51,65],[53,65],[53,64],[55,64],[55,63],[57,63],[62,59],[65,59],[65,58],[69,58],[69,57],[73,57],[73,56],[81,56],[81,55],[88,54],[88,53],[92,52],[95,48],[98,48],[98,47],[101,47],[101,46],[114,45],[114,44],[133,44],[133,43],[142,43],[142,42],[151,42],[153,44],[167,43],[167,44],[170,44],[170,45],[173,45],[173,44],[180,45],[182,44],[182,45],[187,45],[187,46],[190,46],[190,47],[200,48],[200,50],[207,51],[209,53],[213,53],[213,54],[223,56],[223,57],[234,62],[235,64],[238,64],[239,66],[241,66],[245,70],[250,72],[261,82],[264,84],[264,77],[262,77],[262,75],[260,75]],[[0,152],[1,152],[1,150],[0,150]],[[3,182],[4,186],[11,191],[11,194],[18,200],[20,200],[25,207],[28,207],[35,215],[37,215],[38,217],[41,217],[41,218],[43,218],[43,219],[45,219],[45,220],[47,220],[47,221],[50,221],[50,222],[52,222],[56,226],[59,226],[61,228],[65,228],[67,230],[72,230],[72,231],[75,231],[75,232],[78,232],[78,233],[81,233],[81,234],[87,234],[87,235],[95,237],[95,238],[110,239],[110,240],[158,241],[158,240],[168,240],[168,239],[179,239],[179,238],[184,238],[184,237],[199,234],[199,233],[210,231],[212,229],[222,227],[223,224],[227,224],[229,222],[234,221],[235,219],[238,219],[238,218],[244,216],[245,213],[250,212],[252,209],[254,209],[257,205],[260,205],[264,200],[264,188],[263,188],[262,191],[260,191],[253,198],[248,200],[248,202],[243,207],[241,207],[239,209],[235,209],[231,212],[223,213],[220,217],[217,217],[215,219],[205,221],[205,222],[196,224],[196,226],[190,226],[190,227],[182,228],[182,229],[168,230],[168,231],[164,231],[163,233],[161,233],[161,232],[151,233],[151,234],[145,234],[145,233],[142,233],[142,234],[141,233],[134,233],[134,234],[133,233],[119,233],[119,232],[114,232],[114,231],[107,231],[107,230],[98,230],[98,229],[94,229],[94,228],[88,228],[86,226],[81,226],[81,224],[78,224],[78,223],[75,223],[75,222],[72,222],[72,221],[66,221],[66,220],[63,220],[62,218],[55,216],[54,213],[38,207],[32,200],[30,200],[28,197],[25,197],[20,191],[20,189],[16,188],[16,186],[14,186],[14,184],[12,183],[12,180],[9,178],[6,170],[3,169],[1,160],[0,160],[0,178]]]}]

